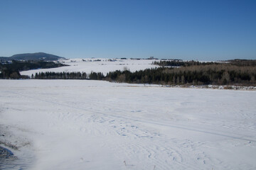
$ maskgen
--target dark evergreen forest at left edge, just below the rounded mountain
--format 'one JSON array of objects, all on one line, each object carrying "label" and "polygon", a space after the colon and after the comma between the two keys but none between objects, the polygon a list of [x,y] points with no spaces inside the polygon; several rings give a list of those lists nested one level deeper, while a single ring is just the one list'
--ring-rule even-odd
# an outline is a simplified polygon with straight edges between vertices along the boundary
[{"label": "dark evergreen forest at left edge, just below the rounded mountain", "polygon": [[63,67],[65,64],[44,61],[16,61],[0,62],[0,79],[27,79],[26,76],[21,76],[19,72],[29,69],[49,69],[55,67]]}]

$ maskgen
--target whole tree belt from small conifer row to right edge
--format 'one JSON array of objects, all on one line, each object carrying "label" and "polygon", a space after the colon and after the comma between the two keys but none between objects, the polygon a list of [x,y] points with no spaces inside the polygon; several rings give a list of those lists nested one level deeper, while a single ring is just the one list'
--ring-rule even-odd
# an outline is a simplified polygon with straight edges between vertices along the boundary
[{"label": "whole tree belt from small conifer row to right edge", "polygon": [[[46,72],[32,75],[34,79],[94,79],[133,84],[164,85],[238,85],[256,86],[256,60],[228,62],[154,62],[162,67],[137,72],[114,71],[104,76],[101,72]],[[166,67],[169,66],[169,67]],[[170,67],[171,66],[171,67]]]}]

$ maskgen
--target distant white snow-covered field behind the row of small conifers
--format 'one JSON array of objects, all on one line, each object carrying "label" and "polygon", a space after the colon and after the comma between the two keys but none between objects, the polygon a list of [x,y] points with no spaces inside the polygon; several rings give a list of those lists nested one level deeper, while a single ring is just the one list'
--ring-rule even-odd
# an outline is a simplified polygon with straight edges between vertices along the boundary
[{"label": "distant white snow-covered field behind the row of small conifers", "polygon": [[108,72],[114,72],[115,70],[124,71],[125,69],[129,69],[131,72],[135,72],[137,70],[158,67],[152,64],[152,62],[158,60],[111,60],[112,61],[110,61],[110,59],[98,58],[60,60],[60,62],[64,62],[63,64],[68,64],[69,66],[53,69],[32,69],[23,71],[21,74],[29,77],[31,77],[32,74],[35,75],[36,72],[86,72],[87,74],[90,74],[90,72],[102,72],[103,74],[107,74]]}]

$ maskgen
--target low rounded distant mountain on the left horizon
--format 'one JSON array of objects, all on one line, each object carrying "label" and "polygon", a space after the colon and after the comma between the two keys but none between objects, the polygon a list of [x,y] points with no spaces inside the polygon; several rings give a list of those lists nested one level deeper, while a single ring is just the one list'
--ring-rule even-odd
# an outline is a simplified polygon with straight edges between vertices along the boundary
[{"label": "low rounded distant mountain on the left horizon", "polygon": [[65,59],[64,57],[59,57],[57,55],[50,55],[44,52],[36,52],[36,53],[26,53],[26,54],[18,54],[13,55],[11,57],[0,57],[0,60],[11,61],[11,60],[43,60],[43,61],[56,61],[59,59]]}]

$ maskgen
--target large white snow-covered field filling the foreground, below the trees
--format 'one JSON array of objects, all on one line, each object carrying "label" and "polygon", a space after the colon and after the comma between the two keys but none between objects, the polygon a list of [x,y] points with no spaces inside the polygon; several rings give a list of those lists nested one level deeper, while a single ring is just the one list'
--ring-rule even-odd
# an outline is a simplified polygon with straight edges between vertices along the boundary
[{"label": "large white snow-covered field filling the foreground, below the trees", "polygon": [[256,91],[2,79],[0,93],[11,169],[256,169]]}]

